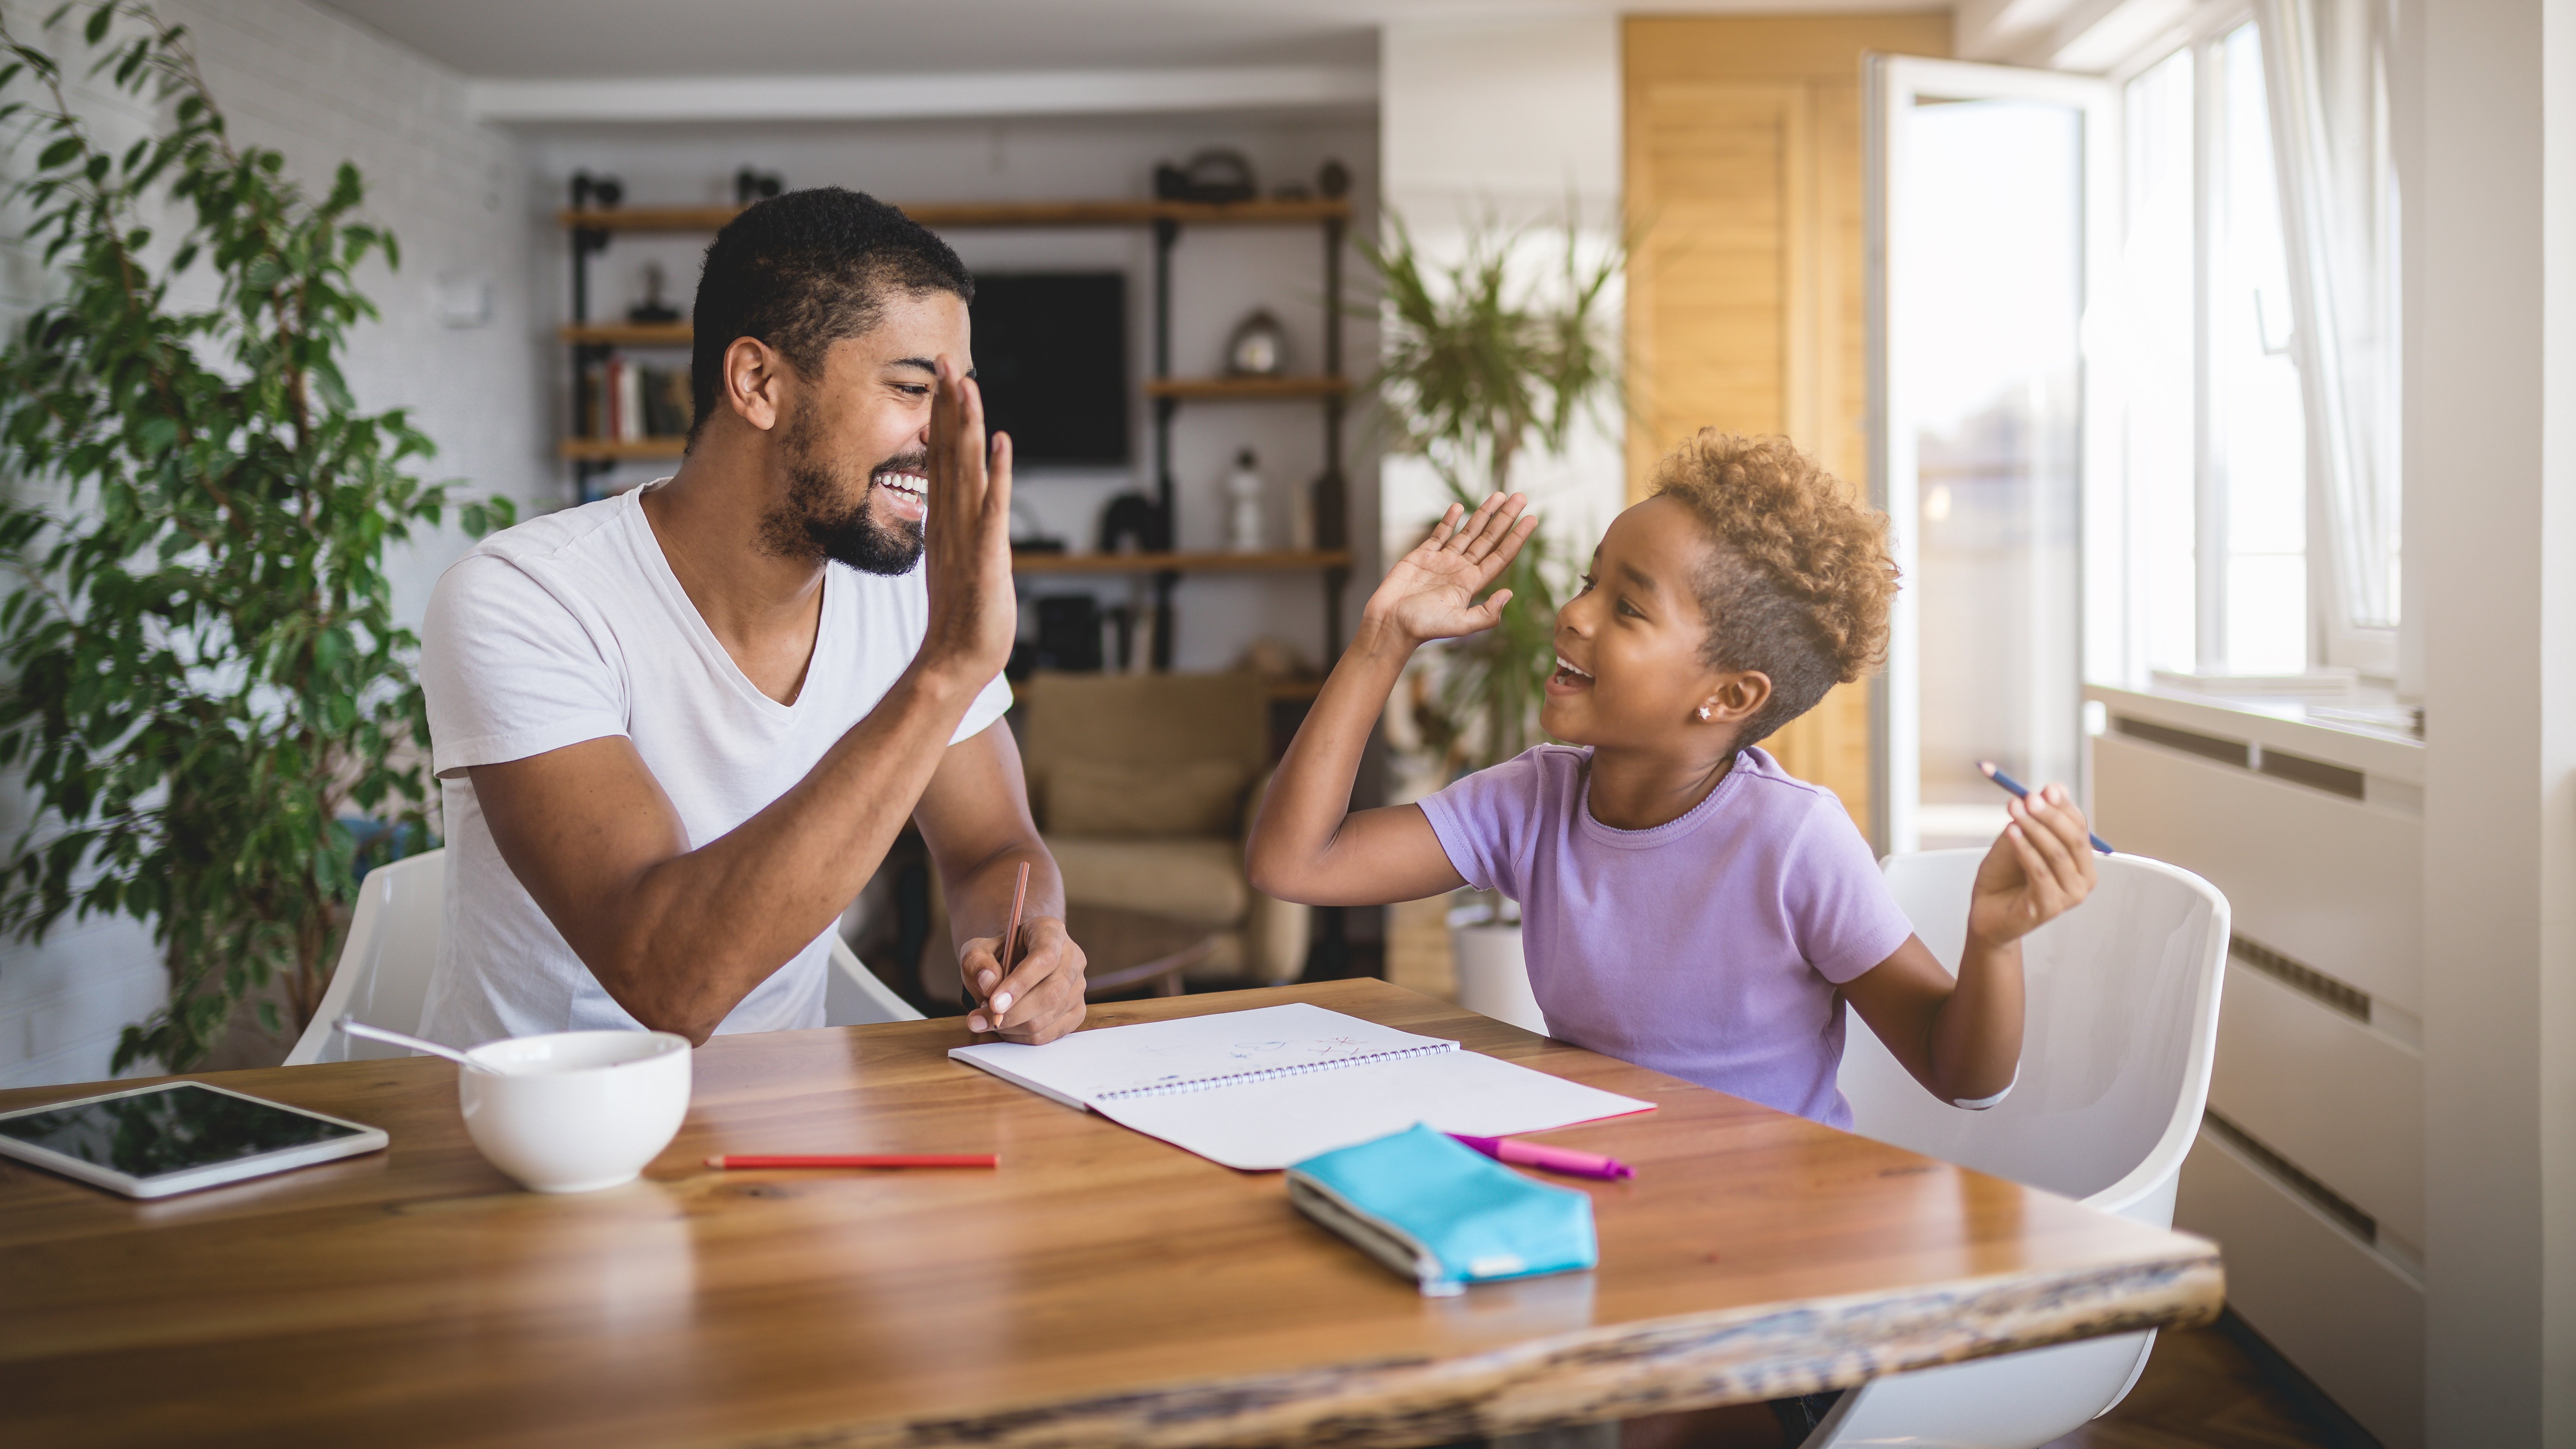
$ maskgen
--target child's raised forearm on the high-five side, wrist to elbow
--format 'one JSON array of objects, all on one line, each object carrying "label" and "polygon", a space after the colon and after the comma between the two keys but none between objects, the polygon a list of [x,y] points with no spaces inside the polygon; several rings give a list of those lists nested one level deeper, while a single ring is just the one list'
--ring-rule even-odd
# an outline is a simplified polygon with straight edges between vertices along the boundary
[{"label": "child's raised forearm on the high-five side, wrist to elbow", "polygon": [[1324,678],[1314,709],[1270,776],[1244,866],[1265,895],[1301,900],[1321,874],[1334,835],[1350,815],[1350,789],[1360,779],[1360,753],[1404,676],[1414,642],[1381,621],[1360,619],[1342,660]]}]

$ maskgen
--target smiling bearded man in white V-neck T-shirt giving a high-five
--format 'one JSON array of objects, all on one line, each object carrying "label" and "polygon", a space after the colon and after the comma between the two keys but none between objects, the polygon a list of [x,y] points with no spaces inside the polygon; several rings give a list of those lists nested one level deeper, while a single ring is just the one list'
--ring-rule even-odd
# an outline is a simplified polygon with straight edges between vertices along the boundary
[{"label": "smiling bearded man in white V-neck T-shirt giving a high-five", "polygon": [[945,242],[868,196],[752,206],[698,278],[680,472],[438,580],[428,1036],[822,1026],[829,931],[907,817],[948,887],[969,1029],[1082,1021],[1064,887],[994,727],[1010,438],[984,441],[971,297]]}]

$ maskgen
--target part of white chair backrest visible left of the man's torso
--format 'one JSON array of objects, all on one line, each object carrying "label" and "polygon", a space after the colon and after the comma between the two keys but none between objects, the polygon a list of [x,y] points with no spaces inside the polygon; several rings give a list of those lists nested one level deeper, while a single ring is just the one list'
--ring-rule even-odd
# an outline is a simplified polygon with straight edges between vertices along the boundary
[{"label": "part of white chair backrest visible left of the man's torso", "polygon": [[348,1013],[371,1026],[420,1031],[420,1006],[430,993],[430,967],[438,964],[438,936],[446,928],[446,900],[443,848],[366,871],[340,964],[332,967],[312,1024],[286,1055],[289,1067],[412,1055],[404,1047],[343,1036],[330,1024]]}]

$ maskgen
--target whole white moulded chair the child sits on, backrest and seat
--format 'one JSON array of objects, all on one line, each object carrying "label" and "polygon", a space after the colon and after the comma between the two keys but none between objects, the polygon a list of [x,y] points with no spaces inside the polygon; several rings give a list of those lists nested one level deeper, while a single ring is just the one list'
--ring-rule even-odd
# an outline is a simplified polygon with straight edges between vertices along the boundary
[{"label": "whole white moulded chair the child sits on, backrest and seat", "polygon": [[[1984,851],[1883,864],[1888,890],[1958,972],[1968,884]],[[2110,856],[2092,897],[2022,944],[2022,1075],[1989,1111],[1922,1088],[1860,1018],[1842,1052],[1852,1129],[1927,1158],[2174,1225],[2182,1158],[2200,1132],[2218,1049],[2228,897],[2161,861]],[[2146,1369],[2156,1333],[2117,1333],[1873,1379],[1803,1449],[2035,1449],[2107,1413]]]}]

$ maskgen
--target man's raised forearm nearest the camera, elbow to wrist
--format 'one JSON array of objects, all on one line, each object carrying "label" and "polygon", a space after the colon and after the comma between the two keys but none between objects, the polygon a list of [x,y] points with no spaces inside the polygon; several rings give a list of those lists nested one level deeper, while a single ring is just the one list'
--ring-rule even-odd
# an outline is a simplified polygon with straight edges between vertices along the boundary
[{"label": "man's raised forearm nearest the camera, elbow to wrist", "polygon": [[600,985],[647,1026],[703,1042],[868,884],[979,688],[917,660],[786,794],[649,866],[608,962],[590,962]]}]

